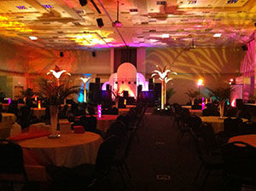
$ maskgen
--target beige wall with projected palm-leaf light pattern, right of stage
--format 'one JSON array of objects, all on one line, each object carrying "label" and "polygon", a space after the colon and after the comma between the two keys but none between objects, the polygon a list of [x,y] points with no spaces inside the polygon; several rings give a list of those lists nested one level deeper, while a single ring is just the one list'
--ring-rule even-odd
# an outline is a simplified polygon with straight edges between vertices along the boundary
[{"label": "beige wall with projected palm-leaf light pattern, right of stage", "polygon": [[189,89],[198,90],[197,80],[204,79],[201,94],[206,94],[207,89],[227,85],[230,78],[239,75],[240,63],[244,53],[241,49],[147,49],[146,72],[147,76],[156,69],[156,65],[167,65],[178,75],[173,75],[173,80],[167,88],[174,88],[176,94],[171,102],[186,103],[189,97],[185,92]]}]

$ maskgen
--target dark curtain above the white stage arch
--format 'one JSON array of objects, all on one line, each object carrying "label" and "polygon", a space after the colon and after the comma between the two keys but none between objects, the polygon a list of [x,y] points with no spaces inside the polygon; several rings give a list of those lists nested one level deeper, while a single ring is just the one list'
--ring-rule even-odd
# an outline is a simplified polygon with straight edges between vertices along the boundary
[{"label": "dark curtain above the white stage arch", "polygon": [[137,49],[114,49],[113,72],[124,62],[131,62],[137,67]]}]

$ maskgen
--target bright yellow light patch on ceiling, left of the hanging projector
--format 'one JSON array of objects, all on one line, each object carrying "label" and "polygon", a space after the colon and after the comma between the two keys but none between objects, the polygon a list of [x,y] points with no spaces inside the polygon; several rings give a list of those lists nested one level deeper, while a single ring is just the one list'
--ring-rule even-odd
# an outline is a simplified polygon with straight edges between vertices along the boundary
[{"label": "bright yellow light patch on ceiling, left of the hanging projector", "polygon": [[76,43],[85,46],[92,46],[95,44],[106,44],[111,43],[113,38],[108,38],[113,32],[106,31],[85,31],[83,34],[78,34],[76,36],[71,36]]}]

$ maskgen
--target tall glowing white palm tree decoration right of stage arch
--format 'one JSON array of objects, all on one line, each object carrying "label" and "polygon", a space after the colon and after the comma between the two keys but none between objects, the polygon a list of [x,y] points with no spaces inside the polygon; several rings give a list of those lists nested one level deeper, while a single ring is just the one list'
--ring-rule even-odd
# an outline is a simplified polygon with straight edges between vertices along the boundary
[{"label": "tall glowing white palm tree decoration right of stage arch", "polygon": [[172,80],[172,78],[169,78],[169,74],[176,74],[177,72],[173,72],[170,69],[166,69],[166,66],[161,68],[157,66],[158,70],[154,70],[151,77],[159,77],[161,81],[161,109],[164,109],[166,105],[166,84]]}]

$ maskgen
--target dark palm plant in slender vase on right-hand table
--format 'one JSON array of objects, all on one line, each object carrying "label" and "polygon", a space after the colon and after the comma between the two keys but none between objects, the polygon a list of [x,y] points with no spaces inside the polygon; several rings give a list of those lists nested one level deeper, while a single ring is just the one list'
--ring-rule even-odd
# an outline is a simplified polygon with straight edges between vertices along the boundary
[{"label": "dark palm plant in slender vase on right-hand table", "polygon": [[218,88],[215,90],[208,89],[212,92],[212,96],[216,97],[219,103],[219,114],[222,118],[224,116],[224,102],[230,99],[230,93],[232,89],[230,87],[228,88]]}]

